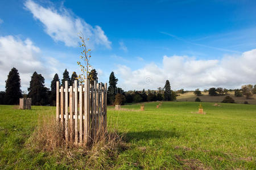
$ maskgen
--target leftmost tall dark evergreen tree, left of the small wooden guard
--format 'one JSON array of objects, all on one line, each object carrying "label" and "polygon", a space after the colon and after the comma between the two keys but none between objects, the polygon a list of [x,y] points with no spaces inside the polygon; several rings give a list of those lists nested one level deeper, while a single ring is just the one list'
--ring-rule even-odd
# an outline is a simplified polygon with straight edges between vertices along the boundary
[{"label": "leftmost tall dark evergreen tree, left of the small wooden guard", "polygon": [[17,69],[14,67],[11,69],[5,83],[5,104],[18,104],[19,98],[22,97],[22,91],[20,90],[20,78]]}]

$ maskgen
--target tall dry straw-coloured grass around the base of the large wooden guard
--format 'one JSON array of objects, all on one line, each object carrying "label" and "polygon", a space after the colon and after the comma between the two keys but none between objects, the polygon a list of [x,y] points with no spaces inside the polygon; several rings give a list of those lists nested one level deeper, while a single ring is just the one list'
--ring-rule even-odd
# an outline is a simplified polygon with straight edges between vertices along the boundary
[{"label": "tall dry straw-coloured grass around the base of the large wooden guard", "polygon": [[38,128],[31,135],[27,146],[35,152],[47,152],[49,156],[60,160],[59,164],[65,162],[72,168],[108,169],[113,168],[109,160],[116,159],[121,151],[127,149],[122,140],[123,135],[116,130],[106,131],[89,146],[70,147],[66,145],[61,125],[55,121],[54,115],[39,116]]}]

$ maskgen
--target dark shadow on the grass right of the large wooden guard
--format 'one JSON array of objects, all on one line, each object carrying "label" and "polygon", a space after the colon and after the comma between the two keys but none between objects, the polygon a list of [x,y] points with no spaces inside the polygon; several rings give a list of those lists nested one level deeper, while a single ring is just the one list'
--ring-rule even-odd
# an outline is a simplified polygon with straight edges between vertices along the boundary
[{"label": "dark shadow on the grass right of the large wooden guard", "polygon": [[175,130],[146,130],[146,131],[129,131],[125,135],[125,141],[139,141],[139,140],[150,140],[150,139],[164,139],[164,138],[179,138],[180,134],[178,134]]}]

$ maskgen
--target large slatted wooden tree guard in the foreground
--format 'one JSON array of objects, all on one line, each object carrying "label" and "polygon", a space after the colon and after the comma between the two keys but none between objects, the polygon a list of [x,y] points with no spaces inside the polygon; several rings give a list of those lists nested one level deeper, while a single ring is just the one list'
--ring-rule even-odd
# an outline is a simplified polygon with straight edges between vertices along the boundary
[{"label": "large slatted wooden tree guard in the foreground", "polygon": [[106,130],[107,84],[60,87],[56,82],[56,120],[60,122],[65,142],[71,145],[88,145]]}]

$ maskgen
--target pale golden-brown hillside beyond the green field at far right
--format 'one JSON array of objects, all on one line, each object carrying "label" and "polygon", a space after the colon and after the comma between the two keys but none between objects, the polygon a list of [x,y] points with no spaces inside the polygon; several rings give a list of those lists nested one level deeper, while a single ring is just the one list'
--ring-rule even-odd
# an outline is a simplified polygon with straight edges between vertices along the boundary
[{"label": "pale golden-brown hillside beyond the green field at far right", "polygon": [[[209,96],[208,92],[201,92],[202,96],[196,96],[193,92],[187,92],[185,94],[179,94],[177,96],[177,101],[195,101],[196,97],[199,97],[201,101],[204,102],[221,102],[226,96]],[[234,96],[234,91],[228,92],[228,95],[232,97],[236,103],[243,104],[245,101],[248,101],[249,104],[256,104],[256,94],[254,94],[251,99],[246,99],[245,96],[236,97]]]}]

